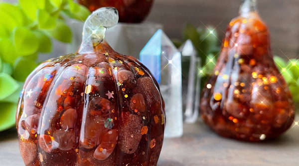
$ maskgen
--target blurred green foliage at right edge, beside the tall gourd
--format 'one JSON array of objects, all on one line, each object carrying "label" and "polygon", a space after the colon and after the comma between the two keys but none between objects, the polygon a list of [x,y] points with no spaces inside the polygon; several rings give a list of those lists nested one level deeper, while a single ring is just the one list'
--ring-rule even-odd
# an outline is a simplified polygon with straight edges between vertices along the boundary
[{"label": "blurred green foliage at right edge, beside the tall gourd", "polygon": [[294,102],[299,102],[299,59],[285,61],[279,56],[274,56],[274,61],[288,83]]}]

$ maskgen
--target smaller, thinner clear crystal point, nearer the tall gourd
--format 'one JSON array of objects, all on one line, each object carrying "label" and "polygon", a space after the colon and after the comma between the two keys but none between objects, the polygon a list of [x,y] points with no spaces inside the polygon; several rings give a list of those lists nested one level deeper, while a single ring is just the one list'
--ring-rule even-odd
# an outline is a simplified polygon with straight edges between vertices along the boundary
[{"label": "smaller, thinner clear crystal point, nearer the tall gourd", "polygon": [[184,122],[195,123],[199,114],[200,77],[198,69],[201,66],[201,59],[190,39],[183,43],[179,50],[182,55]]}]

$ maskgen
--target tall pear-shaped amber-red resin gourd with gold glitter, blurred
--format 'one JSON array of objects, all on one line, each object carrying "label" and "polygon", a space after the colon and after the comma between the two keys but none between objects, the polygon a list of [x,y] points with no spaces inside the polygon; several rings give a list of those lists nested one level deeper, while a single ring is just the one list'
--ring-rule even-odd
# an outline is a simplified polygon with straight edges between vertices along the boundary
[{"label": "tall pear-shaped amber-red resin gourd with gold glitter, blurred", "polygon": [[200,107],[218,134],[258,142],[278,137],[294,122],[292,97],[275,66],[256,0],[245,0],[241,15],[230,22],[213,72]]}]

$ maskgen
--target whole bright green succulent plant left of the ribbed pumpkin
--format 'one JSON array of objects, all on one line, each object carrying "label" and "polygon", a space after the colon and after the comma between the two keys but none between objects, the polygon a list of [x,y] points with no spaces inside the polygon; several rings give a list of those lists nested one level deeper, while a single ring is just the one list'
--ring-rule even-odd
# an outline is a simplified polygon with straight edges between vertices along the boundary
[{"label": "whole bright green succulent plant left of the ribbed pumpkin", "polygon": [[52,39],[71,42],[65,18],[85,20],[89,14],[73,0],[0,2],[0,131],[14,125],[19,93],[38,54],[52,51]]}]

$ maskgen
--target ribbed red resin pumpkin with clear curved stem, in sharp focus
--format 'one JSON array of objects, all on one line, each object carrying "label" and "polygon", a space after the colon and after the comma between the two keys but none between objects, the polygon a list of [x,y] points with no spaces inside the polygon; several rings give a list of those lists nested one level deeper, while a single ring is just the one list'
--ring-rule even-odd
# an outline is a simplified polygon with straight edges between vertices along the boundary
[{"label": "ribbed red resin pumpkin with clear curved stem, in sharp focus", "polygon": [[117,22],[115,8],[96,10],[78,53],[27,78],[16,115],[26,166],[156,166],[163,100],[149,70],[104,41]]}]

